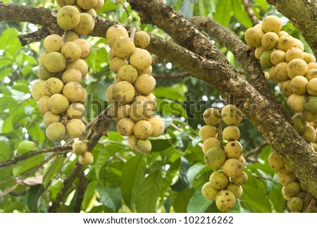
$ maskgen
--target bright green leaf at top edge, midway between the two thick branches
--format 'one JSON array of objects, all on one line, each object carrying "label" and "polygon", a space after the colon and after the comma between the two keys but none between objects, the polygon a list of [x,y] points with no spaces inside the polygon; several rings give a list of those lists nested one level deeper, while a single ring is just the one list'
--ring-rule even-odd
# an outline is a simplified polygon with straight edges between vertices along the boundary
[{"label": "bright green leaf at top edge, midway between the two thick branches", "polygon": [[213,19],[227,27],[230,22],[232,11],[232,0],[218,1],[216,11],[213,13]]}]

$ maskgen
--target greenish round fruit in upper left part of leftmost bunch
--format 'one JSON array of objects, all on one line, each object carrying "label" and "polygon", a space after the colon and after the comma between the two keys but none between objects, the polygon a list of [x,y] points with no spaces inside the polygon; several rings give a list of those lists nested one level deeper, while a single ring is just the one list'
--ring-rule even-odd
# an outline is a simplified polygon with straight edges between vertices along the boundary
[{"label": "greenish round fruit in upper left part of leftmost bunch", "polygon": [[63,54],[52,51],[45,56],[44,65],[51,73],[59,73],[66,68],[66,59]]}]

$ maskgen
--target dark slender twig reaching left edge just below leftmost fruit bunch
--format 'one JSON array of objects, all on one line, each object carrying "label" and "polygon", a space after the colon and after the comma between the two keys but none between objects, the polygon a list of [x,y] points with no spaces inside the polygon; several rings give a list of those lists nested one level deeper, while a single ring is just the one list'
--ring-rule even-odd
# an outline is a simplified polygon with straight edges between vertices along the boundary
[{"label": "dark slender twig reaching left edge just below leftmost fruit bunch", "polygon": [[58,146],[58,147],[44,148],[44,149],[39,149],[37,151],[28,152],[28,153],[22,154],[18,157],[14,157],[13,159],[8,159],[6,161],[0,162],[0,168],[10,166],[12,164],[16,164],[18,161],[22,161],[22,160],[28,159],[30,157],[34,157],[38,154],[44,154],[44,153],[49,153],[49,152],[57,152],[59,154],[59,153],[63,153],[64,151],[66,151],[68,149],[72,149],[72,146],[70,146],[70,145]]}]

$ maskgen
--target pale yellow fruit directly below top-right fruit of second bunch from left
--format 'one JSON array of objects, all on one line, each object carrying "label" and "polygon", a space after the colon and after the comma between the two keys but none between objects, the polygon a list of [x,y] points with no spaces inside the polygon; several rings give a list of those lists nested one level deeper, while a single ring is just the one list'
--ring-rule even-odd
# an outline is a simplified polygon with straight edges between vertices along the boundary
[{"label": "pale yellow fruit directly below top-right fruit of second bunch from left", "polygon": [[137,70],[145,70],[151,66],[152,57],[146,49],[135,48],[130,56],[130,64],[135,66]]}]

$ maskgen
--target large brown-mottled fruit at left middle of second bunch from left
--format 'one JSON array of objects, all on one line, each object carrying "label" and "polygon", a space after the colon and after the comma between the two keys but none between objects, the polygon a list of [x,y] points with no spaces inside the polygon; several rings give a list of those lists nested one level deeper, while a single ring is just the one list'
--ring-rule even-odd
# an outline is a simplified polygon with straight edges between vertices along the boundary
[{"label": "large brown-mottled fruit at left middle of second bunch from left", "polygon": [[113,85],[111,98],[118,104],[130,104],[135,97],[135,87],[127,81],[120,81]]}]

